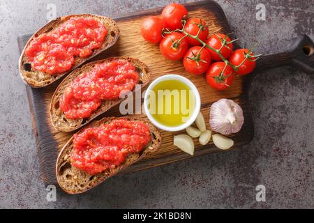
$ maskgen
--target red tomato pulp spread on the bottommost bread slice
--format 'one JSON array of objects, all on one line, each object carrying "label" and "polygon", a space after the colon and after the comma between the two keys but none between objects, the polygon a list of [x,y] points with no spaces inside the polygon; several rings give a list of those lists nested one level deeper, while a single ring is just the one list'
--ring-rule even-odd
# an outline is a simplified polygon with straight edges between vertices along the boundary
[{"label": "red tomato pulp spread on the bottommost bread slice", "polygon": [[142,151],[149,141],[151,134],[147,125],[119,118],[74,134],[71,163],[94,175],[121,164],[128,153]]}]

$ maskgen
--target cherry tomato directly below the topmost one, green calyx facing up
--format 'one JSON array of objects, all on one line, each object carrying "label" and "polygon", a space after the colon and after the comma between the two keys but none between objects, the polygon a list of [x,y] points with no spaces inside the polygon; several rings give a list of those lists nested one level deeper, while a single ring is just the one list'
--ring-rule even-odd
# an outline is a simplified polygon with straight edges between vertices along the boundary
[{"label": "cherry tomato directly below the topmost one, green calyx facing up", "polygon": [[[188,50],[188,42],[186,38],[183,37],[184,34],[178,32],[170,33],[165,36],[159,44],[161,54],[171,61],[181,59]],[[179,40],[181,40],[180,43]]]}]

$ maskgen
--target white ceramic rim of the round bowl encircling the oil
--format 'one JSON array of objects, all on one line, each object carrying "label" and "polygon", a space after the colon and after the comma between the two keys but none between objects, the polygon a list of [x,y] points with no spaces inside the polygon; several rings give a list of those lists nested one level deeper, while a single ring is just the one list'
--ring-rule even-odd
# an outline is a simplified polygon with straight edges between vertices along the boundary
[{"label": "white ceramic rim of the round bowl encircling the oil", "polygon": [[[154,86],[156,86],[156,84],[158,84],[159,82],[163,82],[167,79],[177,79],[183,82],[193,91],[194,97],[195,97],[195,109],[193,111],[193,114],[190,116],[188,121],[186,121],[182,125],[175,126],[175,127],[169,127],[169,126],[158,123],[158,121],[156,121],[155,118],[151,116],[149,112],[149,108],[148,108],[149,92],[154,88]],[[201,105],[200,93],[198,92],[197,88],[189,79],[181,75],[163,75],[161,77],[158,77],[157,79],[154,80],[154,82],[151,82],[151,84],[147,88],[147,91],[145,92],[145,95],[144,95],[144,111],[147,117],[149,118],[149,121],[151,121],[151,123],[153,123],[157,128],[160,128],[161,130],[165,130],[168,132],[176,132],[176,131],[184,130],[188,128],[188,126],[192,125],[192,123],[195,121],[197,117],[197,114],[200,112],[200,105]]]}]

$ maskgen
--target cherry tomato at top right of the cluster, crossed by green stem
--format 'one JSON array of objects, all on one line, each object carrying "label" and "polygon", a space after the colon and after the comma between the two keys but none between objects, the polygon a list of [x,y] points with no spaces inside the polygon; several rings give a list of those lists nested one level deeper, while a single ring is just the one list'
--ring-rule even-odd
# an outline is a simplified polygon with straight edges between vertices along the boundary
[{"label": "cherry tomato at top right of the cluster, crossed by green stem", "polygon": [[[200,26],[202,26],[201,31]],[[198,33],[198,31],[200,31],[198,38],[200,38],[203,42],[207,40],[208,26],[206,25],[206,22],[200,18],[188,19],[186,21],[186,26],[184,26],[184,30],[193,36],[195,36]],[[198,40],[195,40],[190,36],[188,36],[186,39],[188,40],[188,44],[191,46],[201,45],[201,43]]]}]

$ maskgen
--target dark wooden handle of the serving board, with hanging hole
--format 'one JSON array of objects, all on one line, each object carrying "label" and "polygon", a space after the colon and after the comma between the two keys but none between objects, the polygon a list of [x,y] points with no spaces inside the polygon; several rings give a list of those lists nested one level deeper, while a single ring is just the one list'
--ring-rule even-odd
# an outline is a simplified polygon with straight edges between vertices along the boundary
[{"label": "dark wooden handle of the serving board, with hanging hole", "polygon": [[303,72],[314,74],[314,43],[307,35],[292,40],[286,52],[261,56],[256,62],[255,72],[279,66],[296,66]]}]

